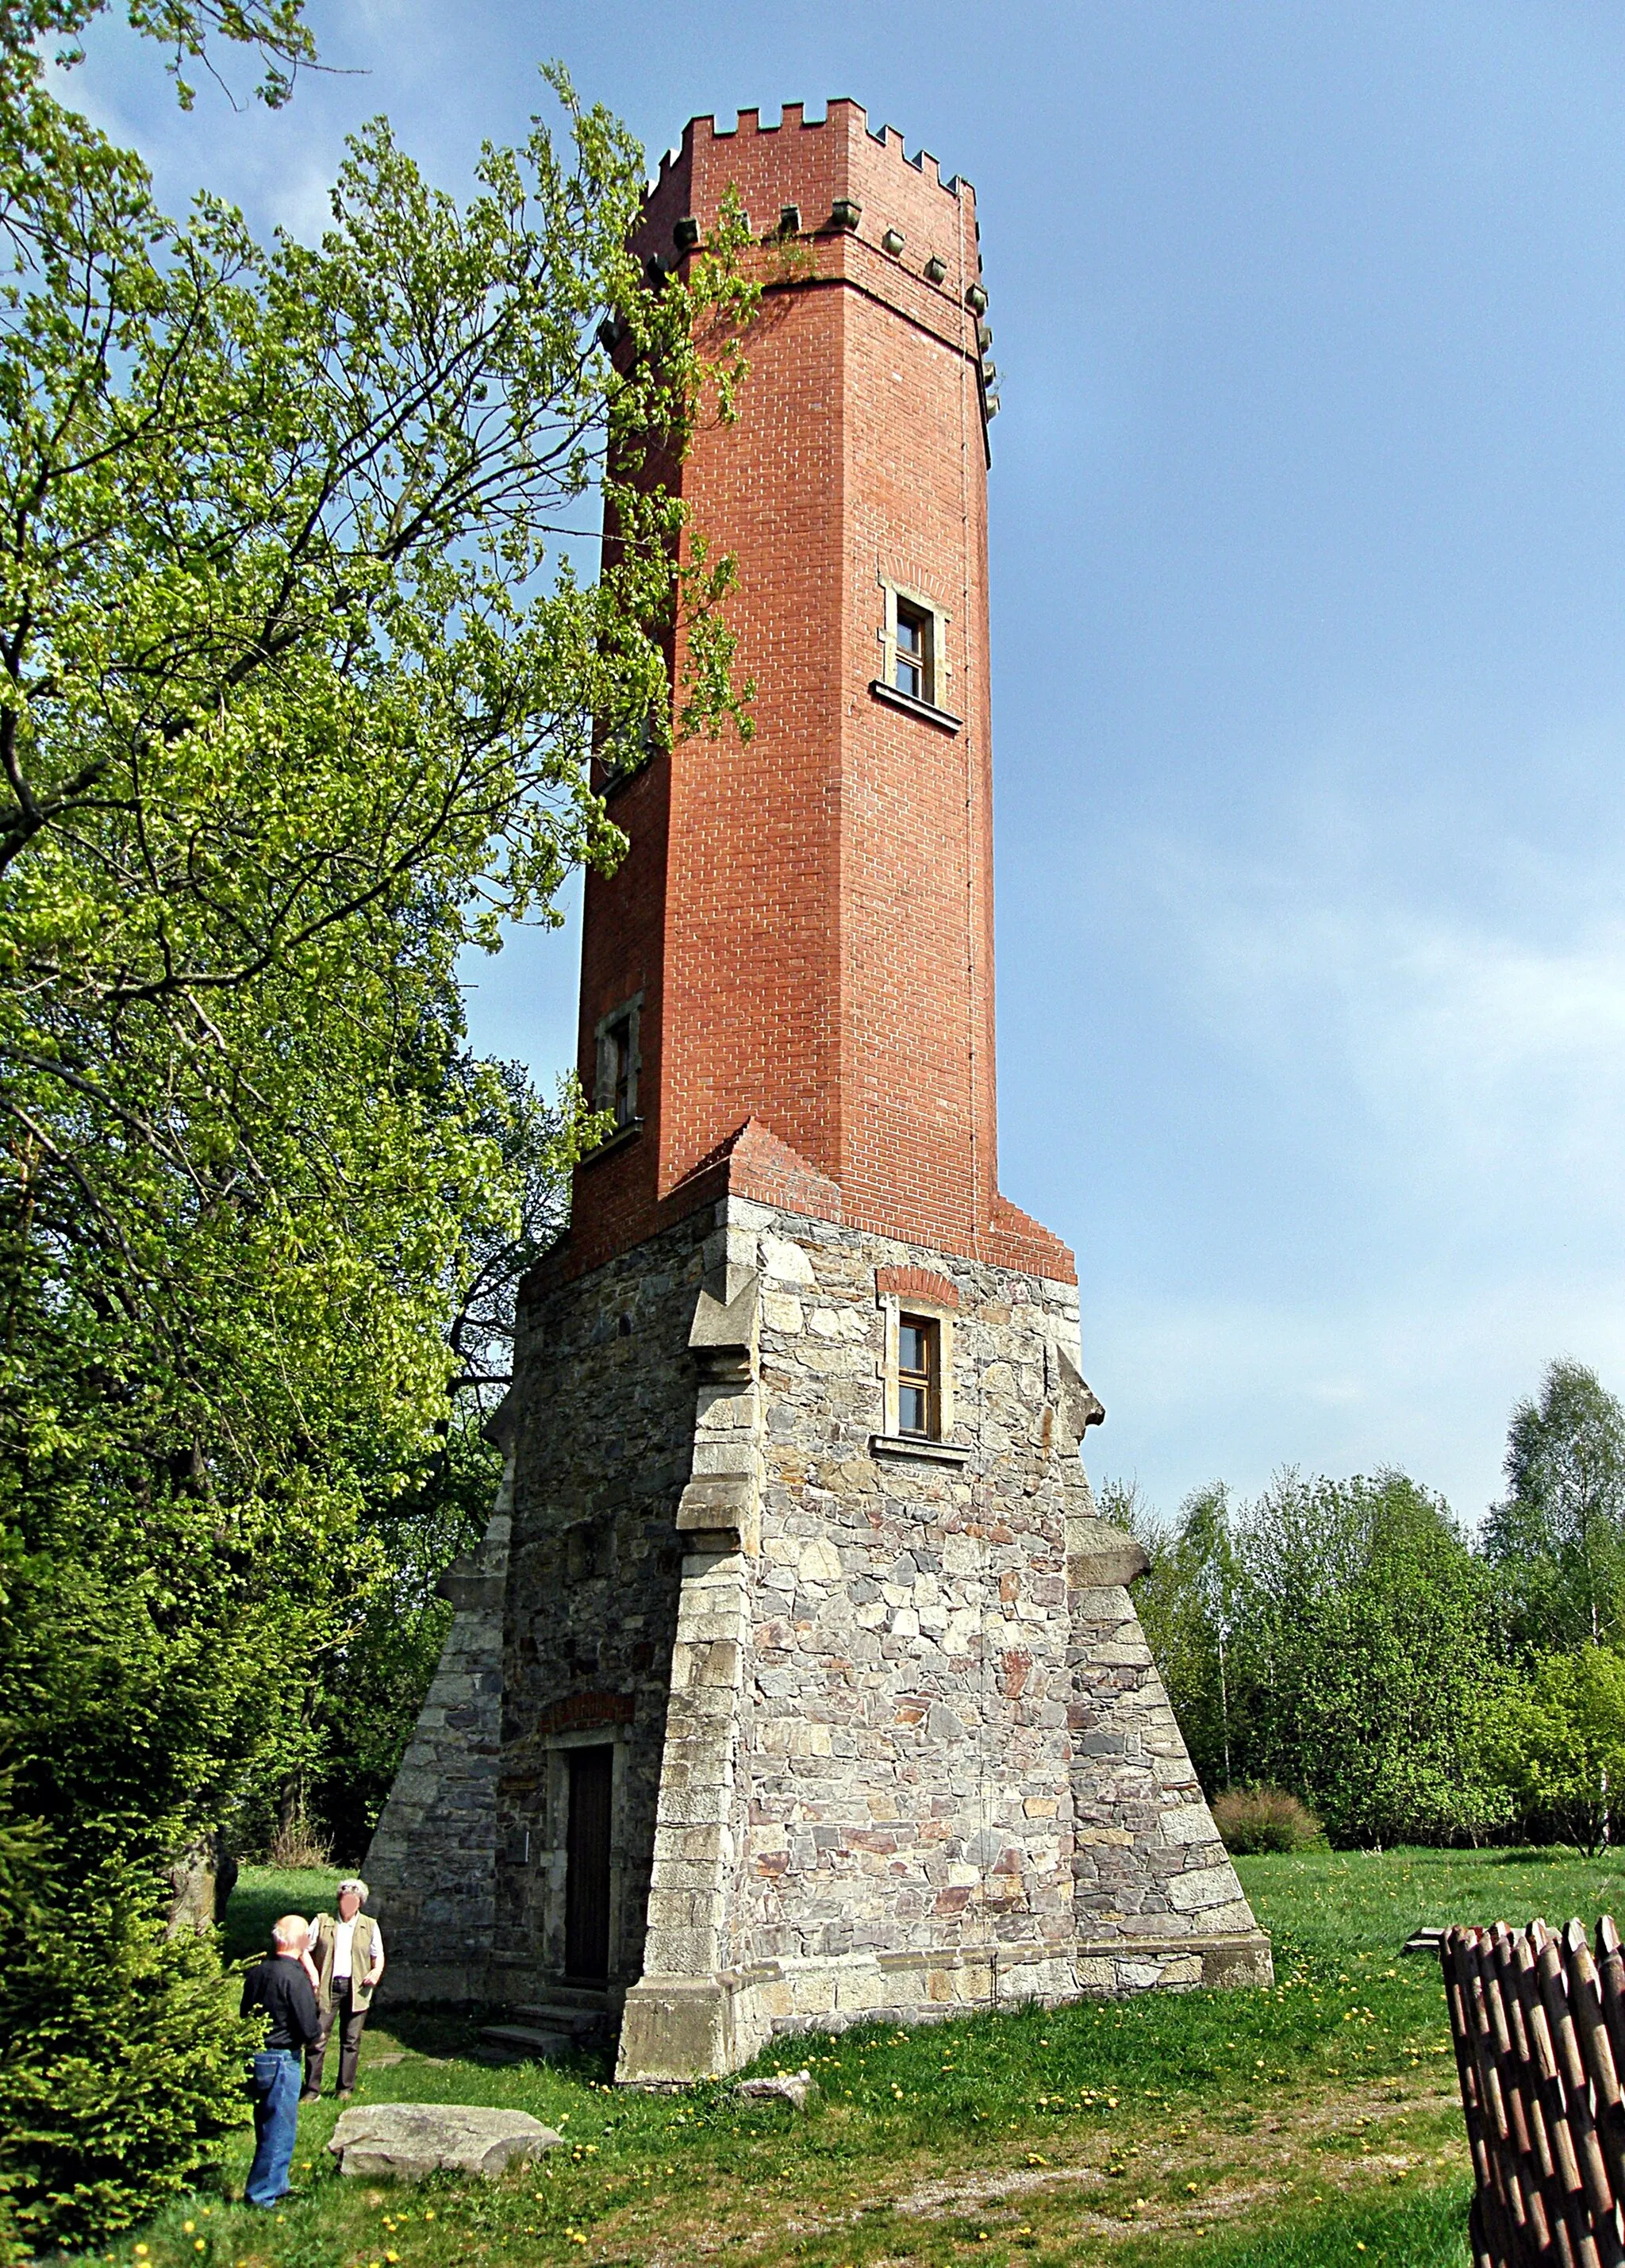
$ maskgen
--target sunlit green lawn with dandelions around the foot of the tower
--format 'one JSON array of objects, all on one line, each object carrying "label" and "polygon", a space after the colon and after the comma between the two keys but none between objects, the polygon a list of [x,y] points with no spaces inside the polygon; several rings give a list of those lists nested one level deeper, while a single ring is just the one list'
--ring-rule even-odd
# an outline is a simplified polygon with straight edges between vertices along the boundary
[{"label": "sunlit green lawn with dandelions around the foot of the tower", "polygon": [[[301,2112],[299,2195],[281,2218],[227,2202],[243,2139],[224,2193],[165,2211],[138,2268],[1460,2268],[1469,2191],[1444,1989],[1437,1962],[1401,1944],[1419,1923],[1625,1914],[1625,1862],[1319,1851],[1244,1860],[1242,1876],[1276,1939],[1271,1991],[775,2041],[762,2068],[807,2064],[820,2082],[809,2118],[718,2084],[619,2093],[592,2059],[480,2066],[471,2023],[385,2007],[360,2100],[512,2105],[567,2148],[524,2180],[369,2191],[326,2159],[329,2098]],[[333,1880],[249,1869],[231,1944],[256,1950]],[[131,2263],[131,2245],[116,2259]]]}]

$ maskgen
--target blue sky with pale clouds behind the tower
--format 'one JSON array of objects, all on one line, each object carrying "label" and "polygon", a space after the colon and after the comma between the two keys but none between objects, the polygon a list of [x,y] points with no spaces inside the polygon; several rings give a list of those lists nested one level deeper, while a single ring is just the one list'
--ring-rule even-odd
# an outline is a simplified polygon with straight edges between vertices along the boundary
[{"label": "blue sky with pale clouds behind the tower", "polygon": [[[1478,1520],[1555,1354],[1625,1388],[1625,16],[313,0],[279,116],[79,100],[315,231],[562,57],[653,152],[854,95],[977,184],[1002,1177],[1079,1252],[1099,1474],[1398,1463]],[[573,928],[474,975],[569,1059]]]}]

